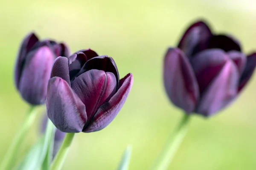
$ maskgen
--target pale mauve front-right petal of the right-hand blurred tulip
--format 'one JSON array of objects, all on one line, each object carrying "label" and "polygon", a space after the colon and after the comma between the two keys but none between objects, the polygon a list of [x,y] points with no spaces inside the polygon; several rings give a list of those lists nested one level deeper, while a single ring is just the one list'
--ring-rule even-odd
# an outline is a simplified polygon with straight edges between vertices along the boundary
[{"label": "pale mauve front-right petal of the right-hand blurred tulip", "polygon": [[229,60],[203,93],[198,103],[196,113],[209,116],[230,104],[233,99],[236,98],[238,81],[238,69],[236,65]]}]

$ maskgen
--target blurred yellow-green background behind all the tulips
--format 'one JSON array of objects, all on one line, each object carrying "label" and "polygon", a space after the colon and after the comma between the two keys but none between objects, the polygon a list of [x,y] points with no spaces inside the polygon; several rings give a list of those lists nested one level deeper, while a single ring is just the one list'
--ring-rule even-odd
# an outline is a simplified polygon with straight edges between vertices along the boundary
[{"label": "blurred yellow-green background behind all the tulips", "polygon": [[[115,170],[128,144],[131,170],[147,170],[182,116],[168,100],[163,55],[198,18],[216,32],[236,35],[246,53],[256,50],[253,0],[2,0],[0,4],[0,160],[28,105],[13,84],[20,41],[30,31],[63,40],[72,52],[92,48],[114,58],[120,77],[134,86],[115,120],[96,133],[79,133],[64,170]],[[256,169],[256,74],[234,104],[212,118],[195,115],[169,170]],[[42,107],[41,110],[44,110]],[[37,141],[39,115],[21,152]]]}]

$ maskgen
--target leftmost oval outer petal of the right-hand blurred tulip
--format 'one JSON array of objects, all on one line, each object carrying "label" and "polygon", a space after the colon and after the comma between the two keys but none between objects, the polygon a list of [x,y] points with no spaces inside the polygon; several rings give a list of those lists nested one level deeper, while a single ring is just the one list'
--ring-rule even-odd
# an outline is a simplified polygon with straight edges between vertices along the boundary
[{"label": "leftmost oval outer petal of the right-hand blurred tulip", "polygon": [[177,107],[190,113],[199,98],[198,83],[188,58],[180,49],[169,49],[164,60],[166,92]]}]

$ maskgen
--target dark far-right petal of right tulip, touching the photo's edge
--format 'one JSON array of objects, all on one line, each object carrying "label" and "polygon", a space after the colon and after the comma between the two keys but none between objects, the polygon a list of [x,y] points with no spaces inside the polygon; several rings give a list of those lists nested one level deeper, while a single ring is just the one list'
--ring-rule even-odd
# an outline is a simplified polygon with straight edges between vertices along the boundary
[{"label": "dark far-right petal of right tulip, touching the photo's edge", "polygon": [[244,88],[244,86],[250,80],[255,70],[255,67],[256,67],[256,53],[253,53],[247,57],[247,62],[244,68],[244,72],[242,73],[239,81],[239,88],[238,88],[239,92],[241,91],[241,89]]}]

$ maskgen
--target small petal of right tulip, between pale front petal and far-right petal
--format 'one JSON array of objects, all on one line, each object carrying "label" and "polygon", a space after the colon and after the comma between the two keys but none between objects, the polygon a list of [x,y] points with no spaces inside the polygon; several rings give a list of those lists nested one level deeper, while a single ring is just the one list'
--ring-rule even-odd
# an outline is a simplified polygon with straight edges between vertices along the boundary
[{"label": "small petal of right tulip, between pale front petal and far-right petal", "polygon": [[244,71],[244,67],[245,67],[245,64],[246,64],[246,56],[243,53],[237,52],[237,51],[230,51],[230,52],[227,53],[227,55],[236,64],[236,66],[239,70],[239,73],[241,75],[242,72]]}]

